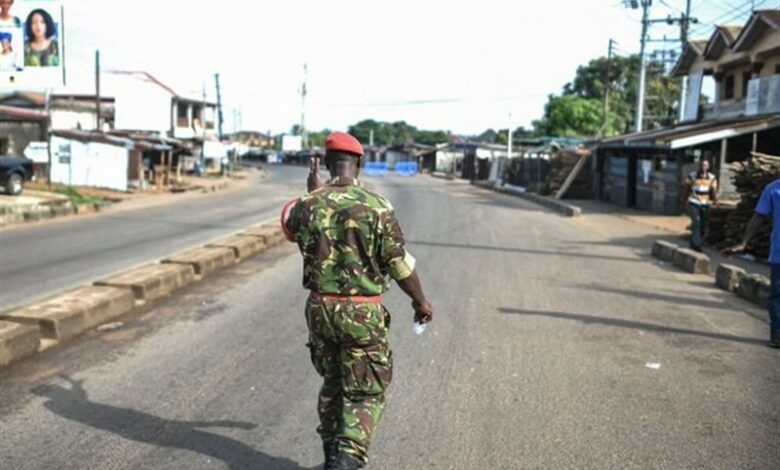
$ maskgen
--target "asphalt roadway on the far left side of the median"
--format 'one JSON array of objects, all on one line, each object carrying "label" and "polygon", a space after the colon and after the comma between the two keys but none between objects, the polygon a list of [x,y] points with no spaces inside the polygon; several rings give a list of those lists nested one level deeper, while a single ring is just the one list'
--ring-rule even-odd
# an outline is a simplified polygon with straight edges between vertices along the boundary
[{"label": "asphalt roadway on the far left side of the median", "polygon": [[305,188],[300,167],[267,166],[251,186],[157,207],[0,231],[0,310],[202,245],[278,214]]}]

